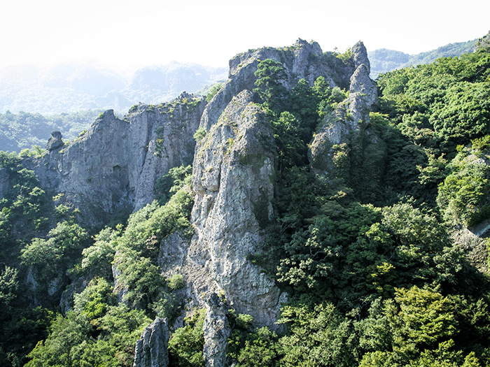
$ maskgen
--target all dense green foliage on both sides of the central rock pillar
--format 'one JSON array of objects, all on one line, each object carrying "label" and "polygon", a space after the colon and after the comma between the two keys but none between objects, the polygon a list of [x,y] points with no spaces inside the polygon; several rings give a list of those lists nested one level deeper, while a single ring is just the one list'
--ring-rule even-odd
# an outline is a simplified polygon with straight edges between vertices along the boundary
[{"label": "all dense green foliage on both sides of the central rock pillar", "polygon": [[[332,146],[326,176],[309,165],[308,145],[348,92],[324,78],[288,90],[273,60],[255,75],[274,131],[276,220],[249,259],[289,301],[276,331],[230,311],[230,363],[489,366],[487,241],[470,232],[490,218],[489,52],[381,75],[376,110]],[[161,275],[158,252],[172,233],[193,234],[190,166],[160,178],[157,200],[125,224],[90,238],[20,157],[1,152],[0,164],[12,183],[0,213],[0,364],[132,366],[144,326],[183,311],[185,280]],[[57,285],[71,289],[71,309],[65,300],[59,313],[54,296],[27,301]],[[204,366],[204,310],[186,311],[170,365]]]}]

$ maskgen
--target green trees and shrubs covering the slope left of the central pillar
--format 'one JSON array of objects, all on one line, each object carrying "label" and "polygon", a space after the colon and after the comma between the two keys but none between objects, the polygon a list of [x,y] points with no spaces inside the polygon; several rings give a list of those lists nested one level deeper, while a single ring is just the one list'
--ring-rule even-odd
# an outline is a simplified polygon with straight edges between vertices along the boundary
[{"label": "green trees and shrubs covering the slope left of the central pillar", "polygon": [[[184,237],[193,233],[190,167],[172,168],[160,179],[160,202],[131,215],[126,226],[102,229],[90,241],[85,229],[57,215],[59,198],[48,199],[36,187],[34,172],[23,168],[15,153],[1,152],[0,159],[13,182],[2,201],[0,223],[0,321],[7,338],[0,344],[1,365],[29,361],[26,366],[132,366],[134,344],[151,318],[173,319],[181,308],[176,292],[185,285],[182,276],[162,278],[156,259],[162,238],[174,231]],[[41,216],[44,213],[47,217]],[[55,221],[55,228],[46,233]],[[14,229],[22,229],[24,236],[16,236]],[[21,280],[26,272],[33,278],[31,289]],[[57,289],[73,279],[88,285],[73,293],[73,309],[59,314]],[[38,298],[43,308],[33,308],[27,296]],[[188,324],[192,327],[176,336],[190,332],[197,339],[188,347],[176,347],[174,359],[187,358],[181,354],[199,343],[202,359],[202,317]]]}]

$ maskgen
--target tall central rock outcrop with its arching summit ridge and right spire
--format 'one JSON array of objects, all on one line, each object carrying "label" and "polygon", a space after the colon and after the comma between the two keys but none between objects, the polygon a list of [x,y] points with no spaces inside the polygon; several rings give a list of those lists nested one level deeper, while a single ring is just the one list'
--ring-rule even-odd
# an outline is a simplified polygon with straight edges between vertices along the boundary
[{"label": "tall central rock outcrop with its arching summit ridge and right spire", "polygon": [[[349,99],[330,117],[335,124],[318,131],[324,138],[322,146],[319,142],[313,145],[312,157],[318,161],[320,150],[328,154],[332,144],[346,142],[351,131],[369,123],[369,110],[377,100],[364,45],[357,43],[352,52],[351,59],[341,61],[323,54],[318,44],[302,40],[291,48],[249,50],[230,61],[230,79],[204,109],[200,128],[206,134],[196,145],[193,161],[191,222],[195,235],[190,241],[179,233],[165,238],[158,264],[166,275],[181,273],[187,295],[207,308],[207,366],[226,364],[228,307],[251,315],[255,325],[275,329],[281,302],[287,298],[272,278],[247,259],[249,254],[260,253],[262,229],[274,220],[274,134],[250,92],[258,62],[281,62],[288,75],[283,81],[287,89],[300,78],[312,85],[318,76],[330,87],[349,88]],[[321,168],[326,171],[328,164]],[[202,294],[211,296],[203,299]]]}]

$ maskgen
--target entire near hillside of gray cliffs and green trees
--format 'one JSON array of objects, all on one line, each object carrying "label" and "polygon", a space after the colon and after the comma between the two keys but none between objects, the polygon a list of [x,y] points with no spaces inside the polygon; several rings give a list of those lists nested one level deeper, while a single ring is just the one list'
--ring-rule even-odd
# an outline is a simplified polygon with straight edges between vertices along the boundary
[{"label": "entire near hillside of gray cliffs and green trees", "polygon": [[489,365],[489,101],[299,39],[0,152],[0,365]]}]

